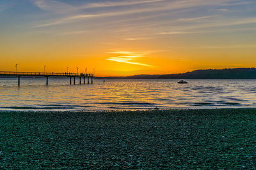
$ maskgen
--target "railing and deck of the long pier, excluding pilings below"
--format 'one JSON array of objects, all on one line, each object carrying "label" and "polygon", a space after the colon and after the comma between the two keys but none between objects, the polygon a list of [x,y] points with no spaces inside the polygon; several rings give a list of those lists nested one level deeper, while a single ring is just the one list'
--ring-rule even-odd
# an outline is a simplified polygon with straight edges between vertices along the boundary
[{"label": "railing and deck of the long pier, excluding pilings below", "polygon": [[92,77],[93,74],[84,73],[41,73],[41,72],[16,72],[16,71],[0,71],[1,76],[86,76]]}]

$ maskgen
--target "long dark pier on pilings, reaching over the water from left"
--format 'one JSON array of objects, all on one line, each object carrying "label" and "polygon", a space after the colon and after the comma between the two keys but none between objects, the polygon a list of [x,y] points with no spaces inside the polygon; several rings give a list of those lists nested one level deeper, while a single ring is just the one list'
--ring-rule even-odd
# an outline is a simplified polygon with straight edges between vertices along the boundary
[{"label": "long dark pier on pilings, reaching over the water from left", "polygon": [[79,78],[79,84],[85,84],[86,78],[87,83],[93,83],[93,74],[84,74],[84,73],[40,73],[40,72],[16,72],[16,71],[0,71],[0,76],[16,76],[18,78],[18,86],[20,87],[20,77],[21,76],[32,76],[32,77],[45,77],[46,78],[46,85],[48,85],[48,78],[51,77],[68,77],[70,78],[70,85],[72,85],[72,78],[74,79],[74,85],[76,84],[76,78]]}]

